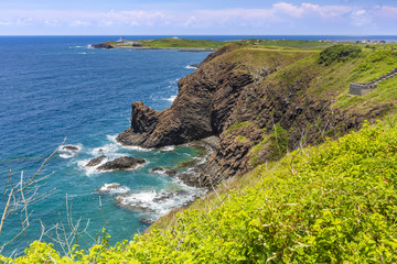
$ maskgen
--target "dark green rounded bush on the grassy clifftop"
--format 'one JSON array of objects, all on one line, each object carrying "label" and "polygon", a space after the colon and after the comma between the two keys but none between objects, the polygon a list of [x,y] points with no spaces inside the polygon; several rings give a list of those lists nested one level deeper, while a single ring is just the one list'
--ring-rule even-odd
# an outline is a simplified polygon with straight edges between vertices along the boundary
[{"label": "dark green rounded bush on the grassy clifftop", "polygon": [[336,44],[322,51],[318,63],[328,66],[334,62],[346,62],[350,58],[357,57],[361,52],[362,50],[358,46]]}]

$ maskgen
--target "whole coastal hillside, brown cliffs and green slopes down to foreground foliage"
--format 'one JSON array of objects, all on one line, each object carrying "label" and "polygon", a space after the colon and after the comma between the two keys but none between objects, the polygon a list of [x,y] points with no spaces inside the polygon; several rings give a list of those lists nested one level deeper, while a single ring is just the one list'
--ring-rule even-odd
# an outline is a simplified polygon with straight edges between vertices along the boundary
[{"label": "whole coastal hillside, brown cliffs and green slopes down to foreground foliage", "polygon": [[64,257],[35,242],[12,262],[395,263],[397,77],[364,97],[348,87],[396,68],[396,46],[270,44],[222,46],[180,80],[171,108],[133,102],[117,138],[160,147],[217,136],[181,176],[208,195],[115,248],[106,233]]}]

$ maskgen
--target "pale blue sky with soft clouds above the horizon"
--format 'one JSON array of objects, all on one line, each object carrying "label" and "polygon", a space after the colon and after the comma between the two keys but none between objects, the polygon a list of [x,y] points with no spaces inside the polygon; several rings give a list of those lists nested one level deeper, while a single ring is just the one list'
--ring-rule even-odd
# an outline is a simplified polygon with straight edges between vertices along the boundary
[{"label": "pale blue sky with soft clouds above the horizon", "polygon": [[0,35],[397,35],[397,0],[0,0]]}]

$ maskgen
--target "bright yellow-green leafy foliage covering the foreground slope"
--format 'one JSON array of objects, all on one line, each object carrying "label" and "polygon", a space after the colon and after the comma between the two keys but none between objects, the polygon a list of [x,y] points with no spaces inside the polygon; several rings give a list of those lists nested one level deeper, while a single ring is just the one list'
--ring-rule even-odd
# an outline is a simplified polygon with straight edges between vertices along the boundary
[{"label": "bright yellow-green leafy foliage covering the foreground slope", "polygon": [[11,263],[396,263],[397,122],[259,169],[254,188],[189,209],[169,230],[61,257],[35,242]]}]

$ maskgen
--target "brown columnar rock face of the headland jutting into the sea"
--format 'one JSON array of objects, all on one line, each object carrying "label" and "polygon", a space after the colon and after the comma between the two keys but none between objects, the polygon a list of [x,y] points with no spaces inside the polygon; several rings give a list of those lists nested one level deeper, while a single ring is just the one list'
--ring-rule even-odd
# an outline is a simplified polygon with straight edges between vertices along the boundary
[{"label": "brown columnar rock face of the headland jutting into the sea", "polygon": [[218,134],[239,91],[253,82],[250,75],[235,74],[235,67],[213,64],[198,68],[180,80],[175,101],[163,111],[154,111],[141,101],[133,102],[131,127],[117,141],[125,145],[161,147]]}]

